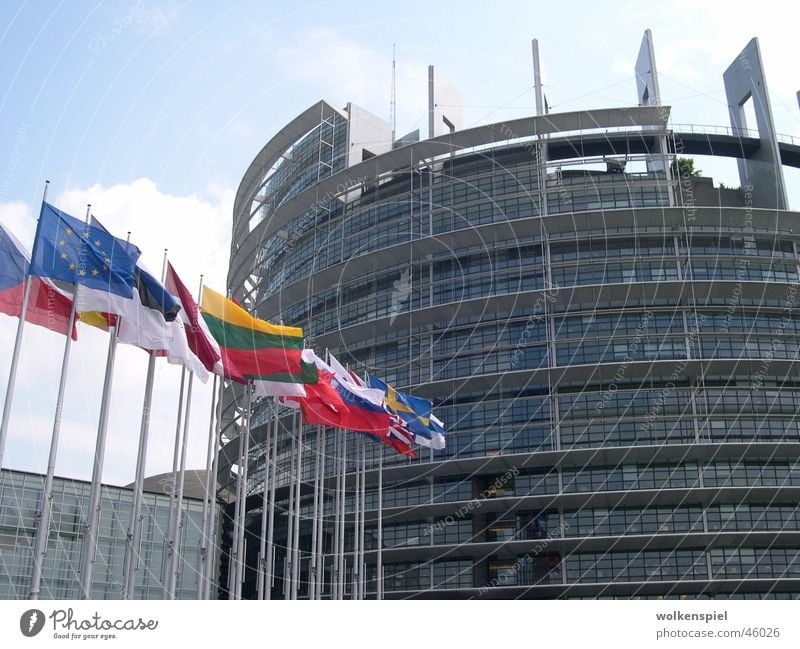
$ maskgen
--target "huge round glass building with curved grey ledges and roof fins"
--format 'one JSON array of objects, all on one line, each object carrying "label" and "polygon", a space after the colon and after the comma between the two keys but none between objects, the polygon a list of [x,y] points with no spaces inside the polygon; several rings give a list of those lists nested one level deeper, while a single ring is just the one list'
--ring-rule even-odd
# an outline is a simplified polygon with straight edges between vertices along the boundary
[{"label": "huge round glass building with curved grey ledges and roof fins", "polygon": [[[236,196],[232,294],[431,399],[447,427],[447,448],[414,460],[367,443],[366,596],[380,563],[385,598],[798,597],[800,213],[783,168],[800,140],[775,133],[758,43],[724,74],[730,128],[671,123],[649,32],[638,107],[548,114],[538,65],[534,46],[535,114],[471,128],[431,68],[427,138],[319,101]],[[676,158],[692,155],[738,160],[741,186],[691,177]],[[299,598],[310,582],[331,597],[334,579],[350,597],[357,434],[342,576],[339,436],[286,411],[270,437],[265,400],[244,444],[241,406],[228,391],[218,480],[233,492],[247,455],[242,596],[270,559],[274,598],[292,570]],[[227,556],[221,570],[227,596]]]}]

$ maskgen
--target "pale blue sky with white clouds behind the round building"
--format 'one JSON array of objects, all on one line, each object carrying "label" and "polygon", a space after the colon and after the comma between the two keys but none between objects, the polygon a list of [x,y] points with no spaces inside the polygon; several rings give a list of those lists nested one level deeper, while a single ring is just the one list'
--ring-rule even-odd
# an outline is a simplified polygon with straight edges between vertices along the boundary
[{"label": "pale blue sky with white clouds behind the round building", "polygon": [[[756,6],[757,13],[753,10]],[[0,3],[0,222],[26,243],[42,183],[190,286],[224,287],[238,179],[281,125],[323,97],[388,118],[397,44],[398,132],[425,124],[426,66],[461,90],[467,126],[532,113],[530,40],[540,40],[551,109],[631,105],[633,62],[653,30],[663,103],[675,123],[727,125],[722,73],[752,36],[779,132],[800,136],[796,21],[786,3],[704,2],[3,2]],[[738,184],[735,163],[699,161]],[[787,173],[794,207],[800,175]],[[5,372],[15,322],[0,317]],[[105,355],[81,332],[58,472],[86,478]],[[5,466],[43,470],[61,339],[26,334]],[[120,355],[107,479],[132,479],[144,358]],[[160,367],[148,473],[168,469],[179,372]],[[3,384],[5,379],[0,380]],[[0,393],[4,388],[0,387]],[[190,466],[204,462],[208,390],[197,393]],[[202,408],[202,412],[201,409]],[[113,414],[116,413],[116,414]],[[168,422],[172,423],[168,423]],[[116,440],[116,443],[114,443]]]}]

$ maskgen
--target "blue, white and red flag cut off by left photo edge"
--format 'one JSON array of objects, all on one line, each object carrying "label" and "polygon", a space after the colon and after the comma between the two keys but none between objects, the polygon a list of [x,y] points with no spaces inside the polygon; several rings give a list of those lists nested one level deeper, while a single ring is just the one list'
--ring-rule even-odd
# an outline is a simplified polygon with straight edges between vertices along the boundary
[{"label": "blue, white and red flag cut off by left photo edge", "polygon": [[[25,281],[31,282],[25,320],[60,334],[67,334],[72,299],[52,282],[41,277],[28,278],[30,258],[23,245],[0,225],[0,313],[20,317]],[[72,339],[78,331],[73,325]]]}]

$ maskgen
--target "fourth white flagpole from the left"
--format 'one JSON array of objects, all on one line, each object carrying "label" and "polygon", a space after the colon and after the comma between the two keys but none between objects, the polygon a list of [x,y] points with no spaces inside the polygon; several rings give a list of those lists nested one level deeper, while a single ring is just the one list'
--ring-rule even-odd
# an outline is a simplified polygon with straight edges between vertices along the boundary
[{"label": "fourth white flagpole from the left", "polygon": [[[167,251],[161,263],[161,282],[167,268]],[[123,599],[133,599],[136,589],[136,572],[139,570],[139,543],[142,536],[141,513],[142,492],[144,490],[145,462],[147,461],[147,442],[150,435],[150,412],[153,404],[153,382],[156,369],[155,352],[150,352],[147,361],[147,379],[144,388],[144,404],[142,405],[142,423],[139,429],[139,449],[136,454],[136,474],[133,485],[133,509],[125,539],[125,564],[123,568]]]}]

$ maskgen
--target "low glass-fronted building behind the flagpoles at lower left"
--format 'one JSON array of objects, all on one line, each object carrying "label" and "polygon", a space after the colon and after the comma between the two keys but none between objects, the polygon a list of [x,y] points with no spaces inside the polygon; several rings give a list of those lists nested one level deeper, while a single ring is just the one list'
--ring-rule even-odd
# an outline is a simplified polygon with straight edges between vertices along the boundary
[{"label": "low glass-fronted building behind the flagpoles at lower left", "polygon": [[[142,544],[136,577],[136,599],[163,598],[165,543],[170,497],[165,491],[168,476],[148,479],[142,499]],[[193,488],[194,476],[187,482]],[[0,471],[0,599],[26,599],[33,568],[44,476],[4,469]],[[56,478],[50,536],[45,556],[40,597],[77,599],[83,537],[89,506],[90,484],[82,480]],[[185,497],[181,569],[176,599],[197,597],[198,552],[203,495]],[[92,599],[122,599],[126,534],[133,508],[129,487],[104,486],[100,501],[97,560],[92,580]]]}]

